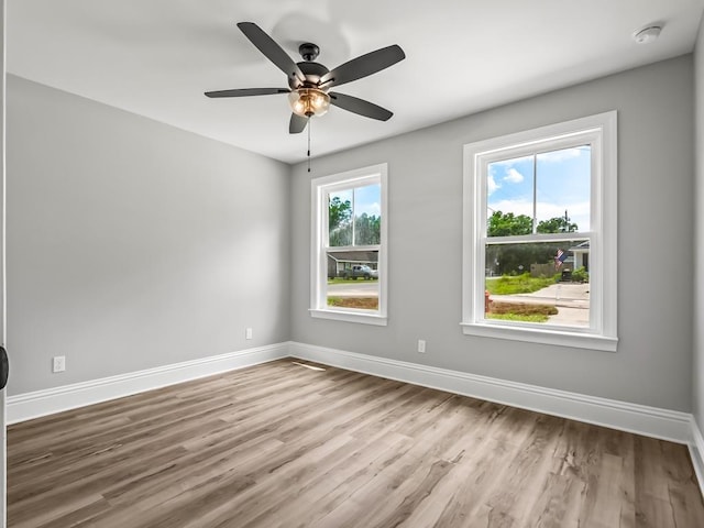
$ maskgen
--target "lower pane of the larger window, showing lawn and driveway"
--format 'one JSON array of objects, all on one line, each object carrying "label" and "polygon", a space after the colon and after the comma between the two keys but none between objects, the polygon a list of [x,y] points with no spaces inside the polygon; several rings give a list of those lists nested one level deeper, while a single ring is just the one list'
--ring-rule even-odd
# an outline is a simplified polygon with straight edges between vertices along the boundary
[{"label": "lower pane of the larger window, showing lawn and driveway", "polygon": [[590,326],[590,242],[486,244],[486,319]]}]

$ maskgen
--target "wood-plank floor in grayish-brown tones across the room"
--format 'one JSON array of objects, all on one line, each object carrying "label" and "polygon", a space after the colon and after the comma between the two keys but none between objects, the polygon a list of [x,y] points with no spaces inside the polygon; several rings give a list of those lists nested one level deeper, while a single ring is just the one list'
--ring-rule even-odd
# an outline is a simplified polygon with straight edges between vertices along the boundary
[{"label": "wood-plank floor in grayish-brown tones across the room", "polygon": [[14,425],[9,526],[704,527],[684,446],[282,360]]}]

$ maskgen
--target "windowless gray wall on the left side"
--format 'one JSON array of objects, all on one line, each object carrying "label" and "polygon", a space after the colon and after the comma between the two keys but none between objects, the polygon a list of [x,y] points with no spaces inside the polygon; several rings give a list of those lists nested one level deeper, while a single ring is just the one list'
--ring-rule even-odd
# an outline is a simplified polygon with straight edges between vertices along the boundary
[{"label": "windowless gray wall on the left side", "polygon": [[14,76],[7,141],[10,395],[289,338],[287,165]]}]

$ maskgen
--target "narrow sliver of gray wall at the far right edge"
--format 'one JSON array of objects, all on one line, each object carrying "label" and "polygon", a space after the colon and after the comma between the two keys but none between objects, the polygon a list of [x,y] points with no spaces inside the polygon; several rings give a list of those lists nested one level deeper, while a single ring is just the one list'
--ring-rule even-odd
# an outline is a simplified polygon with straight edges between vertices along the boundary
[{"label": "narrow sliver of gray wall at the far right edge", "polygon": [[[700,34],[694,48],[694,75],[695,75],[695,226],[694,239],[694,419],[700,428],[704,428],[704,19],[700,24]],[[703,455],[704,453],[700,453]]]}]

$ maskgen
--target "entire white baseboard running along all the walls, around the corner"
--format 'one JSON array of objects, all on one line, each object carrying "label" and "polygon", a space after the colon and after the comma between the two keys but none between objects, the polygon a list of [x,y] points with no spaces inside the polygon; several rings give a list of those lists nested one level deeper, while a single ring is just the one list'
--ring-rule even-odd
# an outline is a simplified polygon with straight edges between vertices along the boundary
[{"label": "entire white baseboard running along all the walls, around the corner", "polygon": [[10,396],[7,419],[16,424],[287,356],[685,443],[694,451],[697,476],[704,482],[704,440],[691,414],[297,342]]}]

